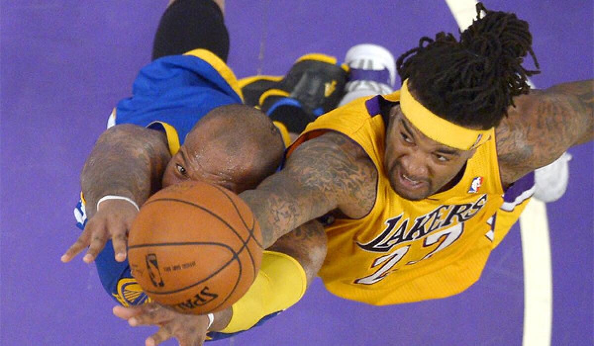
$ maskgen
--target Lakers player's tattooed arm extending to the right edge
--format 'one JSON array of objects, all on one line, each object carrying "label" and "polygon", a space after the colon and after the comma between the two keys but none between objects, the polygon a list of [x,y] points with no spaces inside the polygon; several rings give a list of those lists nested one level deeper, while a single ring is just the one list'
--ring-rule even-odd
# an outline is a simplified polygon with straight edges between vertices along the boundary
[{"label": "Lakers player's tattooed arm extending to the right edge", "polygon": [[594,82],[558,84],[514,99],[495,129],[504,186],[546,166],[569,147],[592,140]]}]

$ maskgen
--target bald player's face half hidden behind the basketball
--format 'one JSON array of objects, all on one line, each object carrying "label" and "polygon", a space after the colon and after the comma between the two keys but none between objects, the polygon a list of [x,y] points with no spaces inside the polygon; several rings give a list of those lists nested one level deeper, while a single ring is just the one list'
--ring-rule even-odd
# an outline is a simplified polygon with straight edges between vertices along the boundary
[{"label": "bald player's face half hidden behind the basketball", "polygon": [[197,150],[187,141],[169,161],[163,174],[163,188],[185,180],[200,180],[238,193],[234,169],[220,150]]}]

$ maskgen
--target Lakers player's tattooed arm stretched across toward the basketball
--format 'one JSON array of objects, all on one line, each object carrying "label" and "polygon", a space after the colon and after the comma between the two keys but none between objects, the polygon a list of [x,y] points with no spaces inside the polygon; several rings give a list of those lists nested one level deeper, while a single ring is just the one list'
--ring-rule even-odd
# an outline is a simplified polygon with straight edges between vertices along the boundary
[{"label": "Lakers player's tattooed arm stretched across toward the basketball", "polygon": [[375,202],[377,171],[361,147],[328,132],[300,145],[285,169],[242,192],[260,223],[264,247],[290,230],[339,208],[360,218]]}]

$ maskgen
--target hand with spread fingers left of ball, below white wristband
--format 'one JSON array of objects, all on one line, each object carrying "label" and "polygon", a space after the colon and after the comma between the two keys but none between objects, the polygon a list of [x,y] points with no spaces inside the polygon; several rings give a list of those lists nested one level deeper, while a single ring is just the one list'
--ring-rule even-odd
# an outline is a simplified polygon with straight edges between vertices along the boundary
[{"label": "hand with spread fingers left of ball, below white wristband", "polygon": [[71,261],[74,256],[89,246],[83,261],[91,263],[109,239],[112,240],[115,260],[124,261],[128,231],[136,214],[138,214],[136,207],[122,199],[103,201],[97,212],[87,221],[87,226],[84,227],[80,237],[64,253],[62,262]]}]

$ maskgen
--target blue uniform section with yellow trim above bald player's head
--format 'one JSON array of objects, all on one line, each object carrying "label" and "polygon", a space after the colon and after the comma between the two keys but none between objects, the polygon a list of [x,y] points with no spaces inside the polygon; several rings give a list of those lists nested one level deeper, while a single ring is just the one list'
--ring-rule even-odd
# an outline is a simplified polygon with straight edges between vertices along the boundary
[{"label": "blue uniform section with yellow trim above bald player's head", "polygon": [[144,66],[132,96],[119,101],[108,126],[131,123],[164,131],[175,154],[198,120],[233,103],[243,103],[233,72],[213,53],[196,49]]}]

